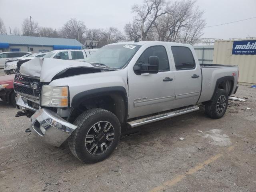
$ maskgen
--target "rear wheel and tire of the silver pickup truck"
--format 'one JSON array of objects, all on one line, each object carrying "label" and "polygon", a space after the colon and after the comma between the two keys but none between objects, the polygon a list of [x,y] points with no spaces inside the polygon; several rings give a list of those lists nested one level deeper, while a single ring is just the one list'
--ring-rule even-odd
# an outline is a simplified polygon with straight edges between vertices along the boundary
[{"label": "rear wheel and tire of the silver pickup truck", "polygon": [[205,105],[206,114],[212,119],[221,118],[228,108],[228,94],[224,89],[217,89],[212,101]]}]

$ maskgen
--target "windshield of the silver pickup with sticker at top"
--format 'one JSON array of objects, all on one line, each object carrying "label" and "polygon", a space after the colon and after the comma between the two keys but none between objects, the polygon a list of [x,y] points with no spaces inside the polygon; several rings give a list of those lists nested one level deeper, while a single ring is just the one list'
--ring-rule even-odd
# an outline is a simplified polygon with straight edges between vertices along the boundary
[{"label": "windshield of the silver pickup with sticker at top", "polygon": [[104,64],[114,69],[123,68],[140,48],[135,44],[106,45],[93,53],[85,61],[95,64]]}]

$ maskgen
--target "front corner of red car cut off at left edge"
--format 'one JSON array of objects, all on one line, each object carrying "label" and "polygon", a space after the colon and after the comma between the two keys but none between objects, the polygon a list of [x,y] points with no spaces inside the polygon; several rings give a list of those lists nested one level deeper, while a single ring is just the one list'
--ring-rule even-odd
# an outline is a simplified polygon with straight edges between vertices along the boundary
[{"label": "front corner of red car cut off at left edge", "polygon": [[16,105],[16,93],[13,90],[14,76],[15,74],[0,76],[0,99],[13,106]]}]

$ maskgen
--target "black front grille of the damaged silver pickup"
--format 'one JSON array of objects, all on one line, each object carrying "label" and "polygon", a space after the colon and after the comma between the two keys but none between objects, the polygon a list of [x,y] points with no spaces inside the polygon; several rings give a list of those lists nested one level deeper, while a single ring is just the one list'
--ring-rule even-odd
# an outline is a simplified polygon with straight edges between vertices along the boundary
[{"label": "black front grille of the damaged silver pickup", "polygon": [[15,92],[18,92],[19,94],[39,97],[42,90],[42,83],[40,83],[40,79],[16,74],[14,82],[15,83],[13,84],[13,88]]}]

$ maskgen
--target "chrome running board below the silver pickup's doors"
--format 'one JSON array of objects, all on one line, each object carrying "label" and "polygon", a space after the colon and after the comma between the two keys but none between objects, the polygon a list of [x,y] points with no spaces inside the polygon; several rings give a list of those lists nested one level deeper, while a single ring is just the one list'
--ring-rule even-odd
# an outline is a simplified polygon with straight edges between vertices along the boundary
[{"label": "chrome running board below the silver pickup's doors", "polygon": [[168,113],[163,113],[163,114],[159,114],[159,115],[155,115],[155,116],[151,116],[151,117],[146,117],[146,118],[142,118],[142,119],[133,120],[133,121],[130,121],[130,122],[127,122],[127,123],[132,128],[134,128],[134,127],[137,127],[137,126],[140,126],[140,125],[160,121],[160,120],[163,120],[163,119],[175,117],[175,116],[178,116],[178,115],[190,113],[190,112],[197,111],[197,110],[199,110],[199,107],[192,106],[192,107],[188,107],[188,108],[184,108],[184,109],[180,109],[180,110],[176,110],[176,111],[172,111],[172,112],[168,112]]}]

